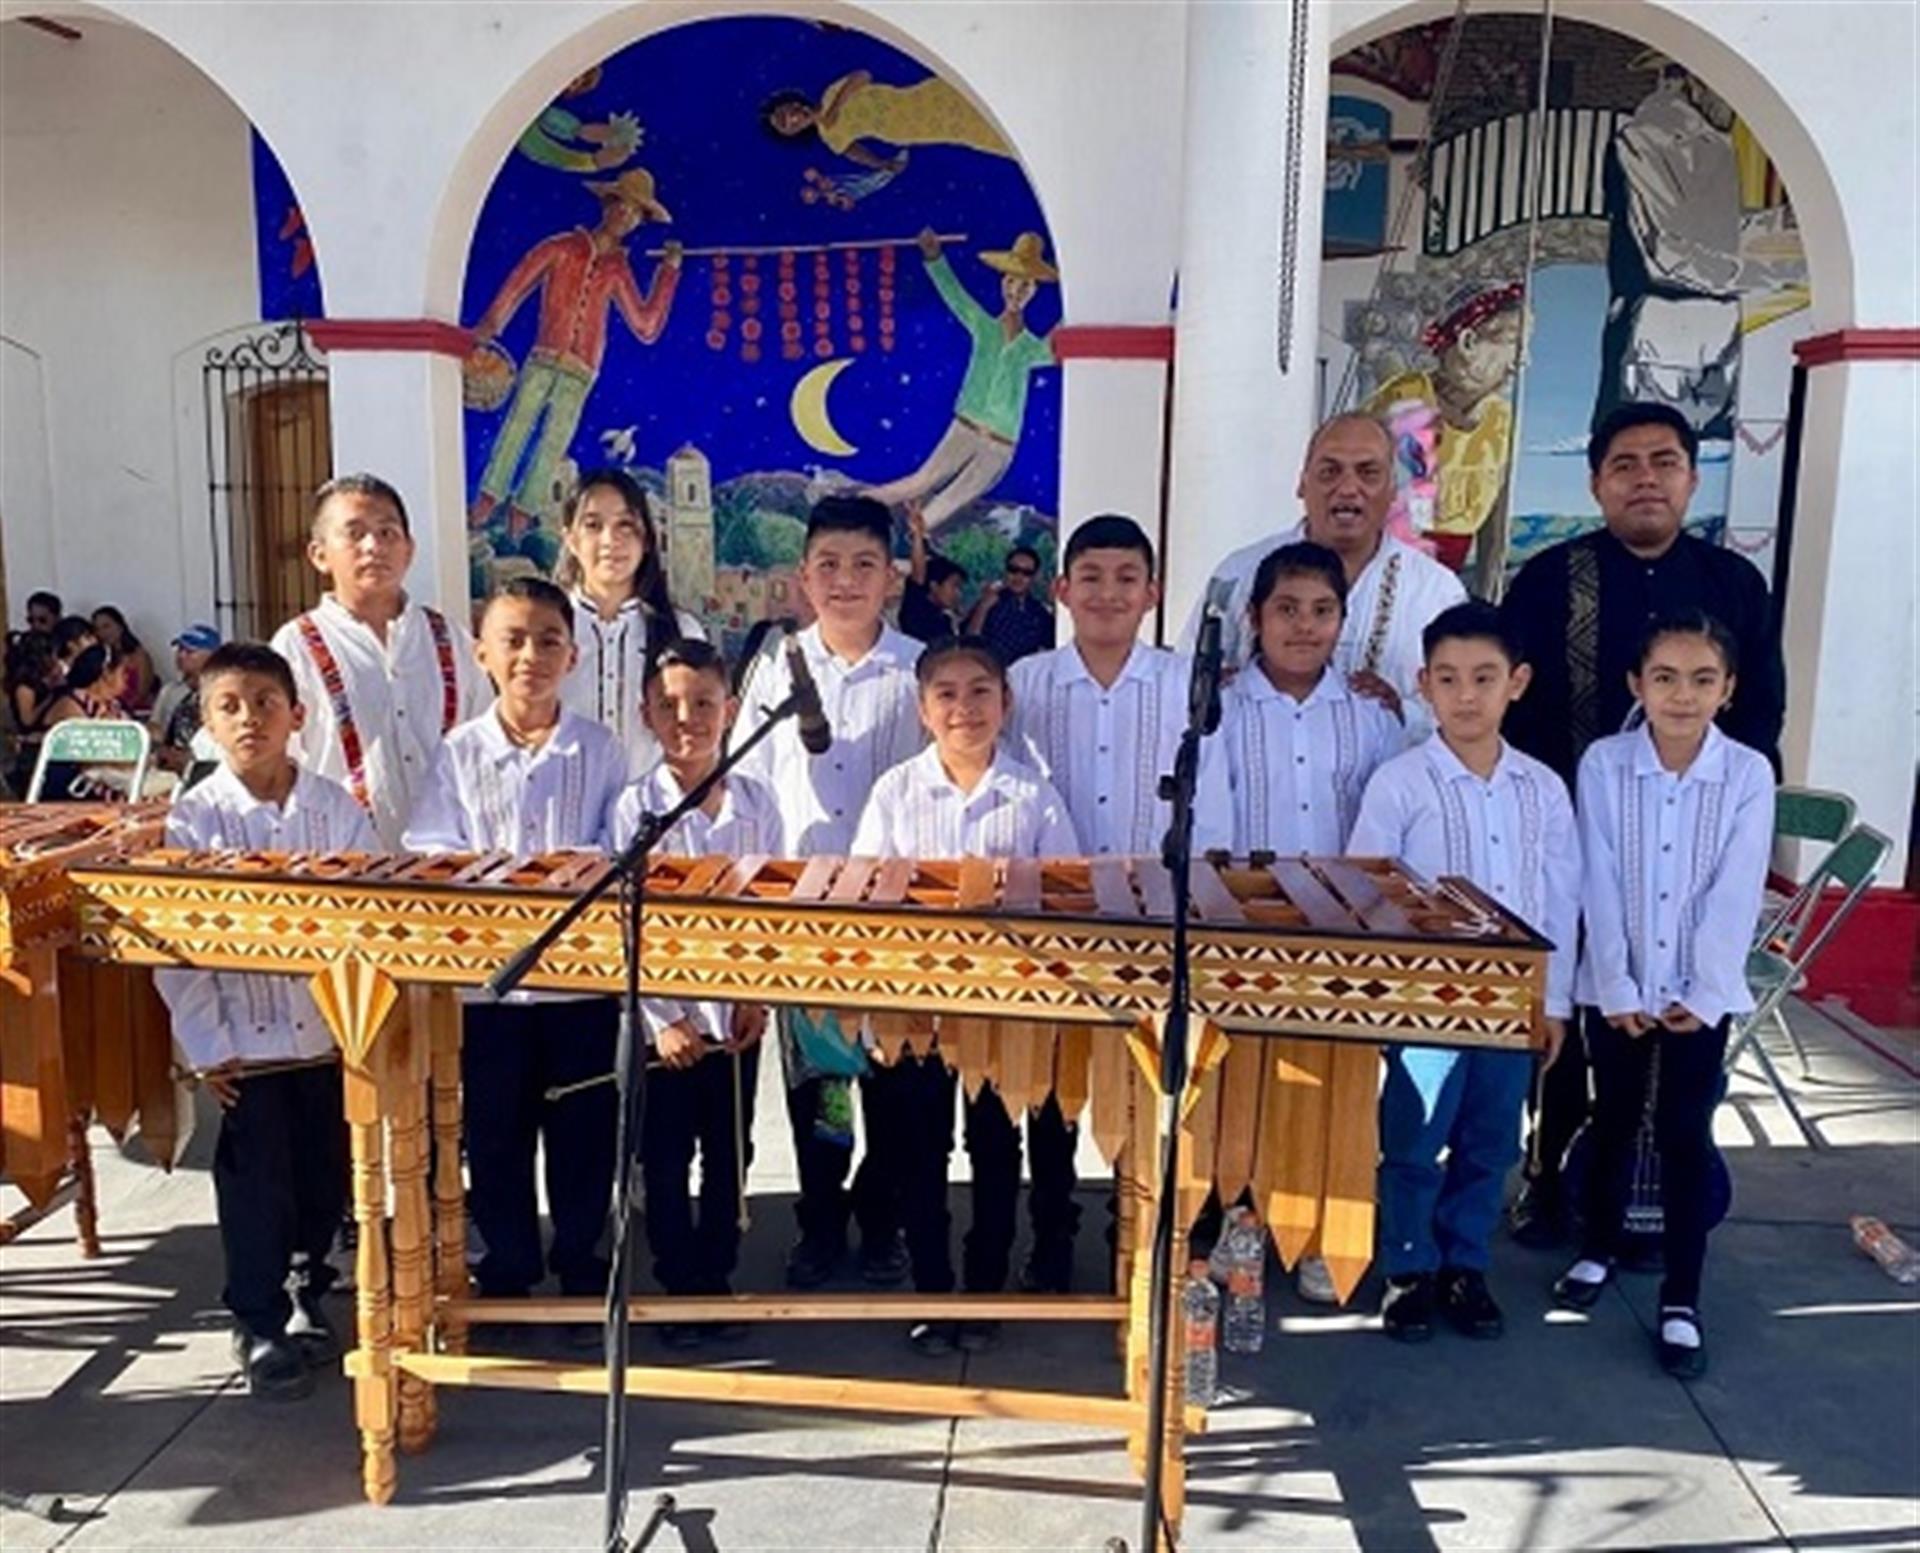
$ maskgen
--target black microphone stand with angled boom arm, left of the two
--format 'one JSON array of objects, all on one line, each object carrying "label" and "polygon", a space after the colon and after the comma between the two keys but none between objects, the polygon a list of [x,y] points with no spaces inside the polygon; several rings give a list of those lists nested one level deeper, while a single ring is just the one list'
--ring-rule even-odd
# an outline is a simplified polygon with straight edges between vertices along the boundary
[{"label": "black microphone stand with angled boom arm, left of the two", "polygon": [[645,1044],[639,1033],[639,920],[647,893],[647,854],[660,843],[674,825],[707,802],[718,787],[768,733],[781,722],[797,716],[801,697],[787,695],[785,701],[766,710],[764,720],[735,749],[730,749],[720,762],[674,804],[666,814],[643,814],[639,829],[626,848],[612,860],[612,866],[576,895],[538,939],[520,948],[484,983],[490,998],[505,998],[540,964],[540,958],[566,933],[586,910],[599,900],[616,881],[620,885],[620,950],[626,962],[620,987],[620,1039],[614,1046],[614,1090],[618,1094],[618,1123],[614,1127],[614,1179],[612,1179],[612,1246],[611,1269],[607,1273],[607,1426],[603,1440],[603,1470],[607,1474],[607,1515],[605,1540],[607,1553],[628,1553],[626,1540],[626,1365],[632,1350],[632,1313],[628,1302],[634,1294],[632,1257],[628,1255],[628,1232],[634,1223],[634,1175],[639,1161],[639,1125],[647,1098],[647,1065],[639,1062]]}]

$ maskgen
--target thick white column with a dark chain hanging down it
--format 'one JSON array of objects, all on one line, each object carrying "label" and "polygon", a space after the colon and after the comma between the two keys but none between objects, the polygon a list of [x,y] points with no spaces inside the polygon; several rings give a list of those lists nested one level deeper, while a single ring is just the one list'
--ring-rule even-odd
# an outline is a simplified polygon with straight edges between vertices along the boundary
[{"label": "thick white column with a dark chain hanging down it", "polygon": [[[1298,146],[1288,61],[1306,25]],[[1175,313],[1169,637],[1231,549],[1294,520],[1315,420],[1327,8],[1187,8],[1187,138]],[[1298,154],[1290,305],[1283,317],[1288,165]],[[1281,338],[1290,353],[1281,367]]]}]

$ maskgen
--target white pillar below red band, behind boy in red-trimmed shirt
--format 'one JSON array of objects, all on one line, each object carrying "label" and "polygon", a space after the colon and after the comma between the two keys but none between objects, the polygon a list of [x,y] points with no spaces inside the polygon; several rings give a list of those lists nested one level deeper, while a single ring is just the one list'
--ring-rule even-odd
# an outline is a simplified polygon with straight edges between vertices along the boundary
[{"label": "white pillar below red band, behind boy in red-trimmed shirt", "polygon": [[369,470],[407,501],[415,557],[407,591],[467,618],[467,499],[461,365],[430,349],[334,349],[326,357],[334,470]]}]

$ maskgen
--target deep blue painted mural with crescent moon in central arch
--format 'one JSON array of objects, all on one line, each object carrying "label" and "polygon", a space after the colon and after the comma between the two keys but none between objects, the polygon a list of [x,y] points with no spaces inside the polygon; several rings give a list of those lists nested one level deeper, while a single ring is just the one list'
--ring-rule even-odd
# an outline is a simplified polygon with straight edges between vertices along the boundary
[{"label": "deep blue painted mural with crescent moon in central arch", "polygon": [[584,468],[655,503],[674,599],[737,649],[799,609],[808,505],[920,503],[975,585],[1054,555],[1060,275],[1012,148],[826,23],[649,36],[526,129],[461,313],[474,593],[551,570]]}]

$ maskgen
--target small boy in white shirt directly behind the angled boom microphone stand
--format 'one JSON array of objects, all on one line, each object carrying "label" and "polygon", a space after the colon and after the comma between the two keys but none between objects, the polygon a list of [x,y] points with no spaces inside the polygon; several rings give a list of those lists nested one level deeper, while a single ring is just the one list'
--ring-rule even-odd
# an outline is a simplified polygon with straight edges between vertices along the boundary
[{"label": "small boy in white shirt directly behind the angled boom microphone stand", "polygon": [[[705,641],[664,647],[647,674],[647,729],[660,764],[628,787],[612,812],[612,850],[622,850],[647,814],[666,814],[720,762],[720,745],[739,712],[726,658]],[[780,804],[755,777],[733,772],[705,804],[655,847],[659,856],[743,858],[781,854]],[[739,1259],[739,1207],[753,1159],[753,1096],[760,1075],[762,1004],[641,1004],[657,1067],[647,1075],[641,1175],[653,1275],[668,1294],[728,1294]],[[701,1156],[699,1225],[687,1171]],[[708,1328],[660,1328],[670,1348],[697,1348]]]}]

